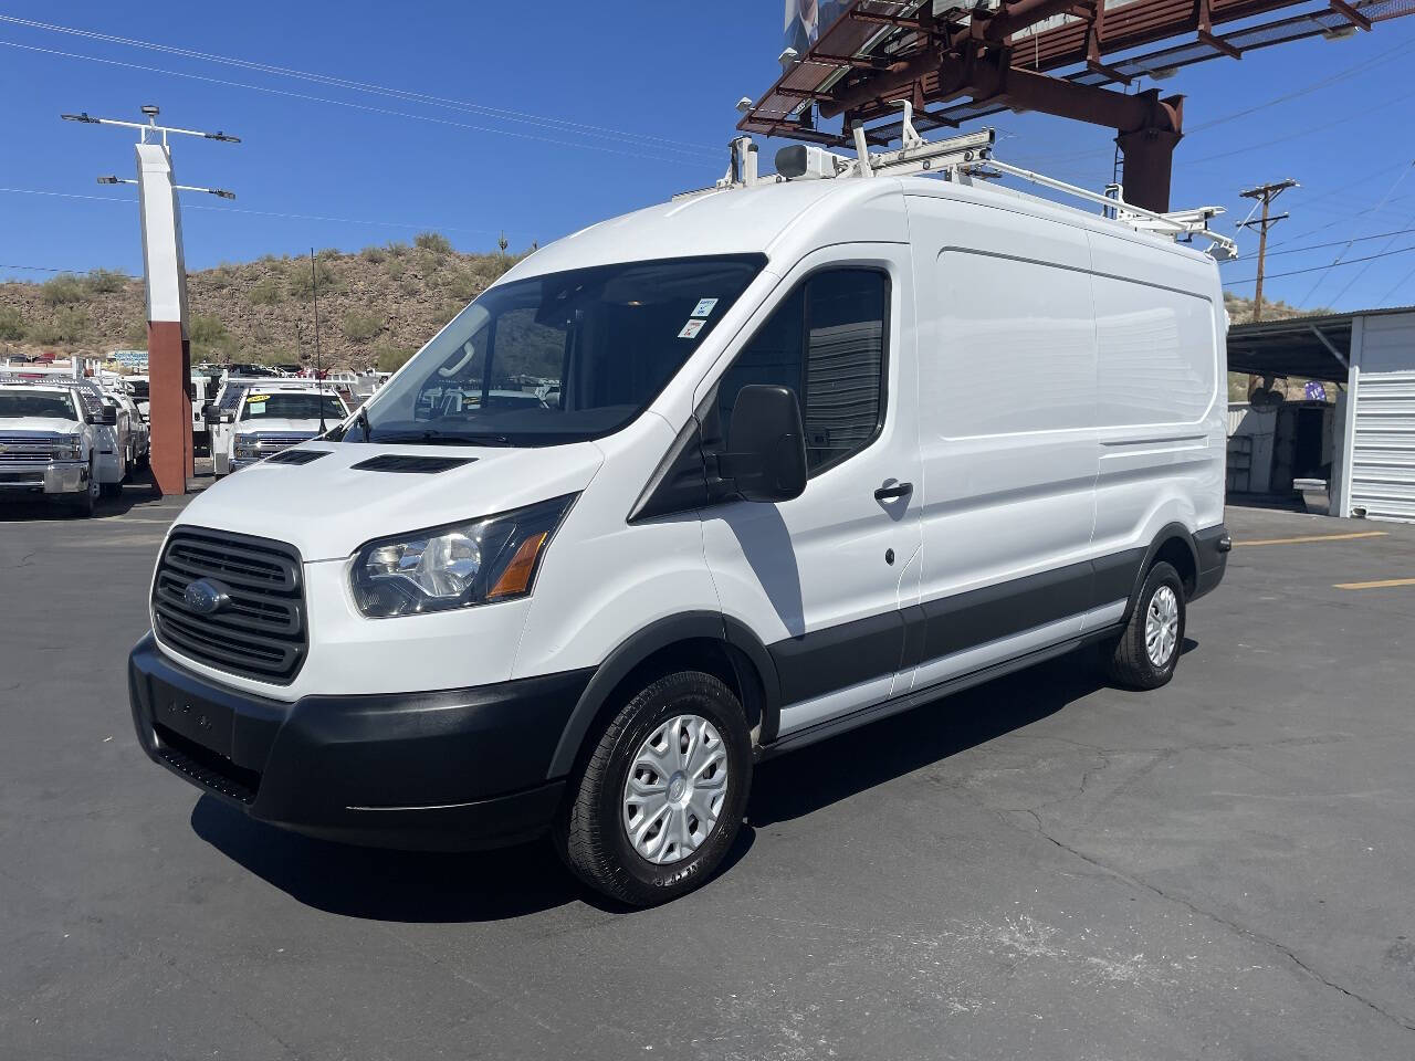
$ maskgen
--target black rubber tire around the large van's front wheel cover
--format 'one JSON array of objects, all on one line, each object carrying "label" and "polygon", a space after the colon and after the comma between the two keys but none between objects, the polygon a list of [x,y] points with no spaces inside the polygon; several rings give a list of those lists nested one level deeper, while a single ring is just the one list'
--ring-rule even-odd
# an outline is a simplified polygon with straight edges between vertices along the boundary
[{"label": "black rubber tire around the large van's front wheel cover", "polygon": [[[638,750],[679,714],[713,724],[726,751],[727,791],[716,823],[681,862],[641,856],[624,823],[624,785]],[[668,903],[703,884],[737,837],[751,788],[751,737],[741,705],[726,685],[700,671],[676,671],[631,696],[610,720],[574,777],[555,830],[566,866],[586,884],[634,907]]]}]

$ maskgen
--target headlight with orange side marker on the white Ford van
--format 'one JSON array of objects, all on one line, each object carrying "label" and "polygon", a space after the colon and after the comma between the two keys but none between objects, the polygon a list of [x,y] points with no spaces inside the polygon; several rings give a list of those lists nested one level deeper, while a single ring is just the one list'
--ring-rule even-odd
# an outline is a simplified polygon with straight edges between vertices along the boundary
[{"label": "headlight with orange side marker on the white Ford van", "polygon": [[389,618],[526,597],[573,501],[369,542],[354,555],[354,603],[368,618]]}]

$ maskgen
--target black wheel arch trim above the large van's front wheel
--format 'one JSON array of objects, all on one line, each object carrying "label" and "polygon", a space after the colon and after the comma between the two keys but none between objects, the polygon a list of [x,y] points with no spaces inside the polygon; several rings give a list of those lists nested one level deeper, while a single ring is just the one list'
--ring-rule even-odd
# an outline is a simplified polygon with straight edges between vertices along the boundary
[{"label": "black wheel arch trim above the large van's front wheel", "polygon": [[[606,656],[604,662],[594,671],[584,692],[580,693],[574,710],[570,712],[570,719],[566,721],[555,754],[550,757],[546,777],[563,777],[574,768],[584,740],[596,719],[600,717],[610,695],[634,668],[658,652],[685,641],[716,641],[726,649],[734,649],[727,652],[727,658],[737,671],[739,688],[760,695],[761,702],[756,705],[761,716],[760,741],[774,740],[780,724],[781,686],[775,663],[766,645],[746,624],[732,617],[716,611],[688,611],[648,624],[621,641]],[[749,663],[756,673],[743,673],[743,662]]]}]

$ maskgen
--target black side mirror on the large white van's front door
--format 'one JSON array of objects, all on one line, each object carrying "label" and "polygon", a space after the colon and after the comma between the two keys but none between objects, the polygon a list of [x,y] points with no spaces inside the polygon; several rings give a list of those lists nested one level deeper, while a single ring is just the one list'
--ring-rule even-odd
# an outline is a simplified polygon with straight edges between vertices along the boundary
[{"label": "black side mirror on the large white van's front door", "polygon": [[722,475],[746,501],[790,501],[805,492],[801,402],[788,386],[753,383],[737,392]]}]

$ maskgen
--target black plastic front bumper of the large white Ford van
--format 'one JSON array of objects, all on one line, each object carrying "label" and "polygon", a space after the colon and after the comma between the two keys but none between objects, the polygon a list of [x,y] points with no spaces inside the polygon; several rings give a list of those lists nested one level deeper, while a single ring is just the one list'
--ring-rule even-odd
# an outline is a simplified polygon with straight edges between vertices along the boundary
[{"label": "black plastic front bumper of the large white Ford van", "polygon": [[471,850],[543,833],[550,758],[590,671],[427,693],[241,693],[168,659],[127,661],[149,758],[262,822],[345,843]]}]

